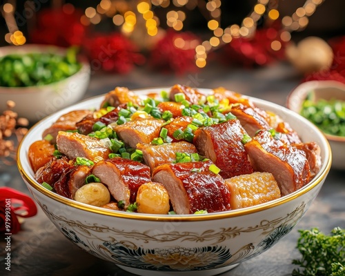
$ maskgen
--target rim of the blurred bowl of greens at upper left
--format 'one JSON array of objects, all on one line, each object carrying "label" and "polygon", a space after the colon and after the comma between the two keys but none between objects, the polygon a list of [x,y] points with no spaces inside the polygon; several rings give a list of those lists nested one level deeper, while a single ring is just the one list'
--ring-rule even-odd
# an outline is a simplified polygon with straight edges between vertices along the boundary
[{"label": "rim of the blurred bowl of greens at upper left", "polygon": [[[55,50],[61,52],[61,54],[63,52],[66,52],[66,50],[67,50],[67,48],[63,48],[63,47],[59,47],[59,46],[55,46],[55,45],[33,44],[33,43],[30,44],[30,43],[28,43],[28,44],[24,44],[21,46],[3,46],[3,47],[0,47],[0,57],[10,55],[12,53],[12,50],[14,50],[14,48],[17,48],[17,50],[18,50],[20,47],[23,47],[26,49],[26,50],[23,50],[23,53],[28,52],[29,49],[32,49],[33,50],[32,52],[38,52],[39,48],[55,49]],[[7,52],[6,50],[9,50],[9,51]],[[13,53],[15,53],[15,52],[13,52]],[[65,79],[61,79],[59,81],[44,84],[42,86],[22,86],[22,87],[21,86],[16,86],[16,87],[0,86],[0,95],[1,94],[7,95],[8,93],[10,93],[10,94],[34,93],[34,92],[37,92],[37,90],[45,90],[46,88],[50,88],[51,86],[57,86],[60,83],[65,83],[67,81],[70,81],[70,79],[75,78],[77,75],[80,75],[83,72],[86,72],[89,74],[90,63],[88,62],[86,57],[83,55],[78,55],[77,59],[78,59],[79,63],[81,64],[81,67],[73,75],[70,75],[69,77],[66,77]]]}]

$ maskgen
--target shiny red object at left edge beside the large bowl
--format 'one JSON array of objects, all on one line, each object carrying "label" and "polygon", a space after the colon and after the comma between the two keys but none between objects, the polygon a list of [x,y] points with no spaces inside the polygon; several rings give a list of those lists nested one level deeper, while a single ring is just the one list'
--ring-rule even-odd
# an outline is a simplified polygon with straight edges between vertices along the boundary
[{"label": "shiny red object at left edge beside the large bowl", "polygon": [[15,234],[21,229],[18,217],[37,214],[34,201],[18,190],[0,187],[0,233]]}]

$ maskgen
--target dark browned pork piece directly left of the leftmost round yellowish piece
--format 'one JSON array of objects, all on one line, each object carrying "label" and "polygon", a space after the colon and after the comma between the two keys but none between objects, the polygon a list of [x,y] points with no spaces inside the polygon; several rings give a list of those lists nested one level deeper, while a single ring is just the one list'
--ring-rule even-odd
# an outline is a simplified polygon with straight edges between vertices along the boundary
[{"label": "dark browned pork piece directly left of the leftmost round yellowish piece", "polygon": [[57,194],[74,199],[75,192],[86,184],[86,177],[90,174],[91,168],[89,166],[74,166],[61,172],[61,176],[55,182],[54,188]]}]

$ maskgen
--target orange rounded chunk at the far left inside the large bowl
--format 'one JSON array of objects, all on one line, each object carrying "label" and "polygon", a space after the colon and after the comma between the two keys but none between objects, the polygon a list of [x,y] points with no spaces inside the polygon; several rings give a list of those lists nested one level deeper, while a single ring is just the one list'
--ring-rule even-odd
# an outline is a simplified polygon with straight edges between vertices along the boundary
[{"label": "orange rounded chunk at the far left inside the large bowl", "polygon": [[49,141],[39,140],[34,141],[29,147],[28,157],[30,165],[34,172],[37,172],[39,168],[46,165],[52,157],[55,151],[54,145],[50,144]]}]

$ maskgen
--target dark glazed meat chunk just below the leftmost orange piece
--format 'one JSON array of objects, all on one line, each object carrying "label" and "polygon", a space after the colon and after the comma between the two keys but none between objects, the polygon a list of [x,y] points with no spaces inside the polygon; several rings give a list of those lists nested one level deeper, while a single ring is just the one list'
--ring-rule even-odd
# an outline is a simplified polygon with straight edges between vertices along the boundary
[{"label": "dark glazed meat chunk just below the leftmost orange piece", "polygon": [[67,157],[62,157],[61,159],[56,159],[55,157],[50,159],[50,161],[39,168],[34,174],[34,179],[42,184],[43,182],[48,183],[50,186],[54,187],[55,182],[59,180],[63,172],[73,168],[72,162]]}]

